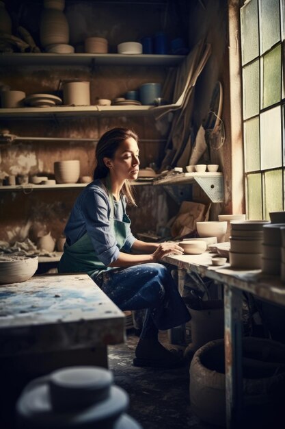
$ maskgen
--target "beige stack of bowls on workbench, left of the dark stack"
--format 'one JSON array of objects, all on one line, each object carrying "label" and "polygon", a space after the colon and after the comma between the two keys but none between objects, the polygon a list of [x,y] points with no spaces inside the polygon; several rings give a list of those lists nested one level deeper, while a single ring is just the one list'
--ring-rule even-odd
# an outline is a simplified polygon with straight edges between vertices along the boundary
[{"label": "beige stack of bowls on workbench, left of the dark stack", "polygon": [[234,268],[260,269],[262,264],[263,225],[267,221],[232,221],[230,265]]}]

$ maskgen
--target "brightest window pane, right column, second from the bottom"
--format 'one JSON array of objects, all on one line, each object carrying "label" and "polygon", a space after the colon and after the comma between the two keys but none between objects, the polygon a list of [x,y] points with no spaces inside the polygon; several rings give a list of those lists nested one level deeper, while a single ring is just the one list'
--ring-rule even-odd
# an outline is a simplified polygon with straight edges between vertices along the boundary
[{"label": "brightest window pane, right column, second from the bottom", "polygon": [[260,114],[260,165],[262,170],[282,166],[280,106]]}]

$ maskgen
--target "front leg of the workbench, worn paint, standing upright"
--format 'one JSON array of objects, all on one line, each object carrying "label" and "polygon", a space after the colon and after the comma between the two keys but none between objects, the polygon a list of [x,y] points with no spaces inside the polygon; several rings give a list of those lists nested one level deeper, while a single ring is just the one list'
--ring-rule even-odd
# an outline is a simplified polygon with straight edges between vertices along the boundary
[{"label": "front leg of the workbench, worn paint, standing upright", "polygon": [[243,408],[242,292],[225,285],[226,423],[240,428]]}]

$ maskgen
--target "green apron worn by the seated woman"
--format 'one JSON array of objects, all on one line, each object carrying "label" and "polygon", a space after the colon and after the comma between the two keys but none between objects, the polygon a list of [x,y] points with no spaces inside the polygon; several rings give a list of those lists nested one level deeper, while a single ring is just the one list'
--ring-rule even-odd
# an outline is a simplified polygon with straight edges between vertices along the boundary
[{"label": "green apron worn by the seated woman", "polygon": [[[108,180],[107,190],[109,193],[109,201],[111,205],[109,219],[110,227],[113,228],[116,238],[116,245],[120,250],[126,242],[126,237],[128,236],[131,221],[128,215],[126,215],[123,201],[123,219],[122,221],[114,219],[113,195],[111,194]],[[96,276],[102,271],[108,271],[115,268],[118,267],[106,267],[106,265],[104,265],[103,262],[97,258],[91,238],[89,234],[85,232],[85,234],[72,245],[69,246],[67,243],[64,245],[64,254],[59,261],[58,271],[59,273],[87,273],[90,275],[90,277],[92,277],[92,279],[95,279]]]}]

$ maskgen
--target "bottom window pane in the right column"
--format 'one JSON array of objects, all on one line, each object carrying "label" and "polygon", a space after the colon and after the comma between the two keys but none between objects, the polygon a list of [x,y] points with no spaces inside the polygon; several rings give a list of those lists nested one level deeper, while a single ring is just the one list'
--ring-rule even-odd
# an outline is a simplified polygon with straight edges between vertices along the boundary
[{"label": "bottom window pane in the right column", "polygon": [[264,219],[269,220],[269,212],[283,210],[282,175],[282,169],[264,173]]}]

